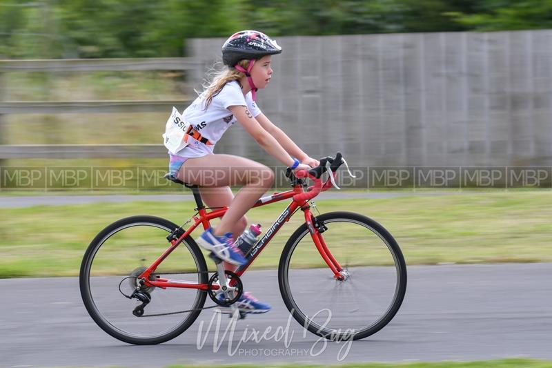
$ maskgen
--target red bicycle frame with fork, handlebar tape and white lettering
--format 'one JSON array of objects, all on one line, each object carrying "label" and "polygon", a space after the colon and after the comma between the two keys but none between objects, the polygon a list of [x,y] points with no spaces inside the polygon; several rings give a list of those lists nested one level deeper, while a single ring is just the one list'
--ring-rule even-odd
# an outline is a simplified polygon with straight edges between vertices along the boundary
[{"label": "red bicycle frame with fork, handlebar tape and white lettering", "polygon": [[[332,174],[330,174],[332,175]],[[334,177],[336,173],[333,173]],[[332,184],[330,180],[326,180],[326,182],[322,185],[321,188],[319,188],[319,192],[326,191],[328,188],[331,188]],[[155,280],[149,280],[150,274],[157,269],[159,264],[163,262],[165,258],[174,251],[179,244],[181,244],[182,240],[186,238],[190,233],[192,233],[200,224],[203,225],[204,229],[208,229],[210,227],[210,220],[213,220],[215,218],[222,217],[226,211],[228,211],[228,207],[222,207],[221,209],[216,209],[214,211],[207,211],[207,209],[203,206],[203,203],[201,202],[201,196],[199,195],[199,191],[197,191],[196,188],[192,188],[194,197],[196,199],[196,202],[198,204],[197,207],[197,213],[192,217],[193,219],[193,225],[190,226],[189,229],[187,229],[183,234],[181,234],[176,240],[172,240],[170,242],[170,247],[164,251],[155,262],[153,262],[144,273],[139,275],[139,278],[144,280],[144,283],[147,287],[160,287],[162,289],[166,289],[168,287],[175,287],[175,288],[184,288],[184,289],[199,289],[199,290],[208,290],[208,284],[206,283],[198,283],[198,282],[188,282],[188,281],[181,281],[181,280],[169,280],[164,278],[157,278]],[[194,191],[195,189],[195,191]],[[288,220],[295,214],[295,211],[297,209],[301,209],[304,212],[305,216],[305,222],[308,228],[308,231],[311,233],[311,238],[313,239],[313,242],[315,243],[315,246],[317,250],[319,251],[320,255],[328,265],[329,269],[333,272],[334,278],[337,280],[342,279],[342,275],[339,273],[342,271],[342,267],[339,265],[339,262],[333,257],[330,250],[328,249],[328,246],[326,246],[326,242],[324,242],[324,238],[322,237],[322,233],[319,232],[319,229],[317,226],[315,226],[315,220],[311,213],[311,206],[308,204],[308,200],[301,199],[301,195],[304,195],[305,193],[308,193],[309,191],[313,191],[314,186],[309,186],[307,188],[307,191],[304,191],[304,188],[302,184],[295,184],[293,185],[293,188],[289,191],[285,191],[282,193],[273,193],[272,195],[267,195],[266,197],[260,198],[255,205],[255,207],[260,206],[266,206],[267,204],[280,202],[282,200],[287,200],[289,198],[292,198],[292,202],[287,206],[287,208],[282,212],[281,215],[277,218],[277,220],[268,228],[266,233],[262,236],[260,240],[257,241],[255,246],[250,250],[250,252],[247,255],[248,263],[239,266],[234,272],[238,276],[242,276],[245,271],[248,269],[250,264],[253,263],[255,258],[262,252],[265,246],[268,245],[270,240],[276,235],[276,233],[279,231],[279,229],[282,228],[285,222],[288,222]],[[316,193],[317,195],[317,193]],[[213,289],[217,289],[217,285],[213,285]]]}]

